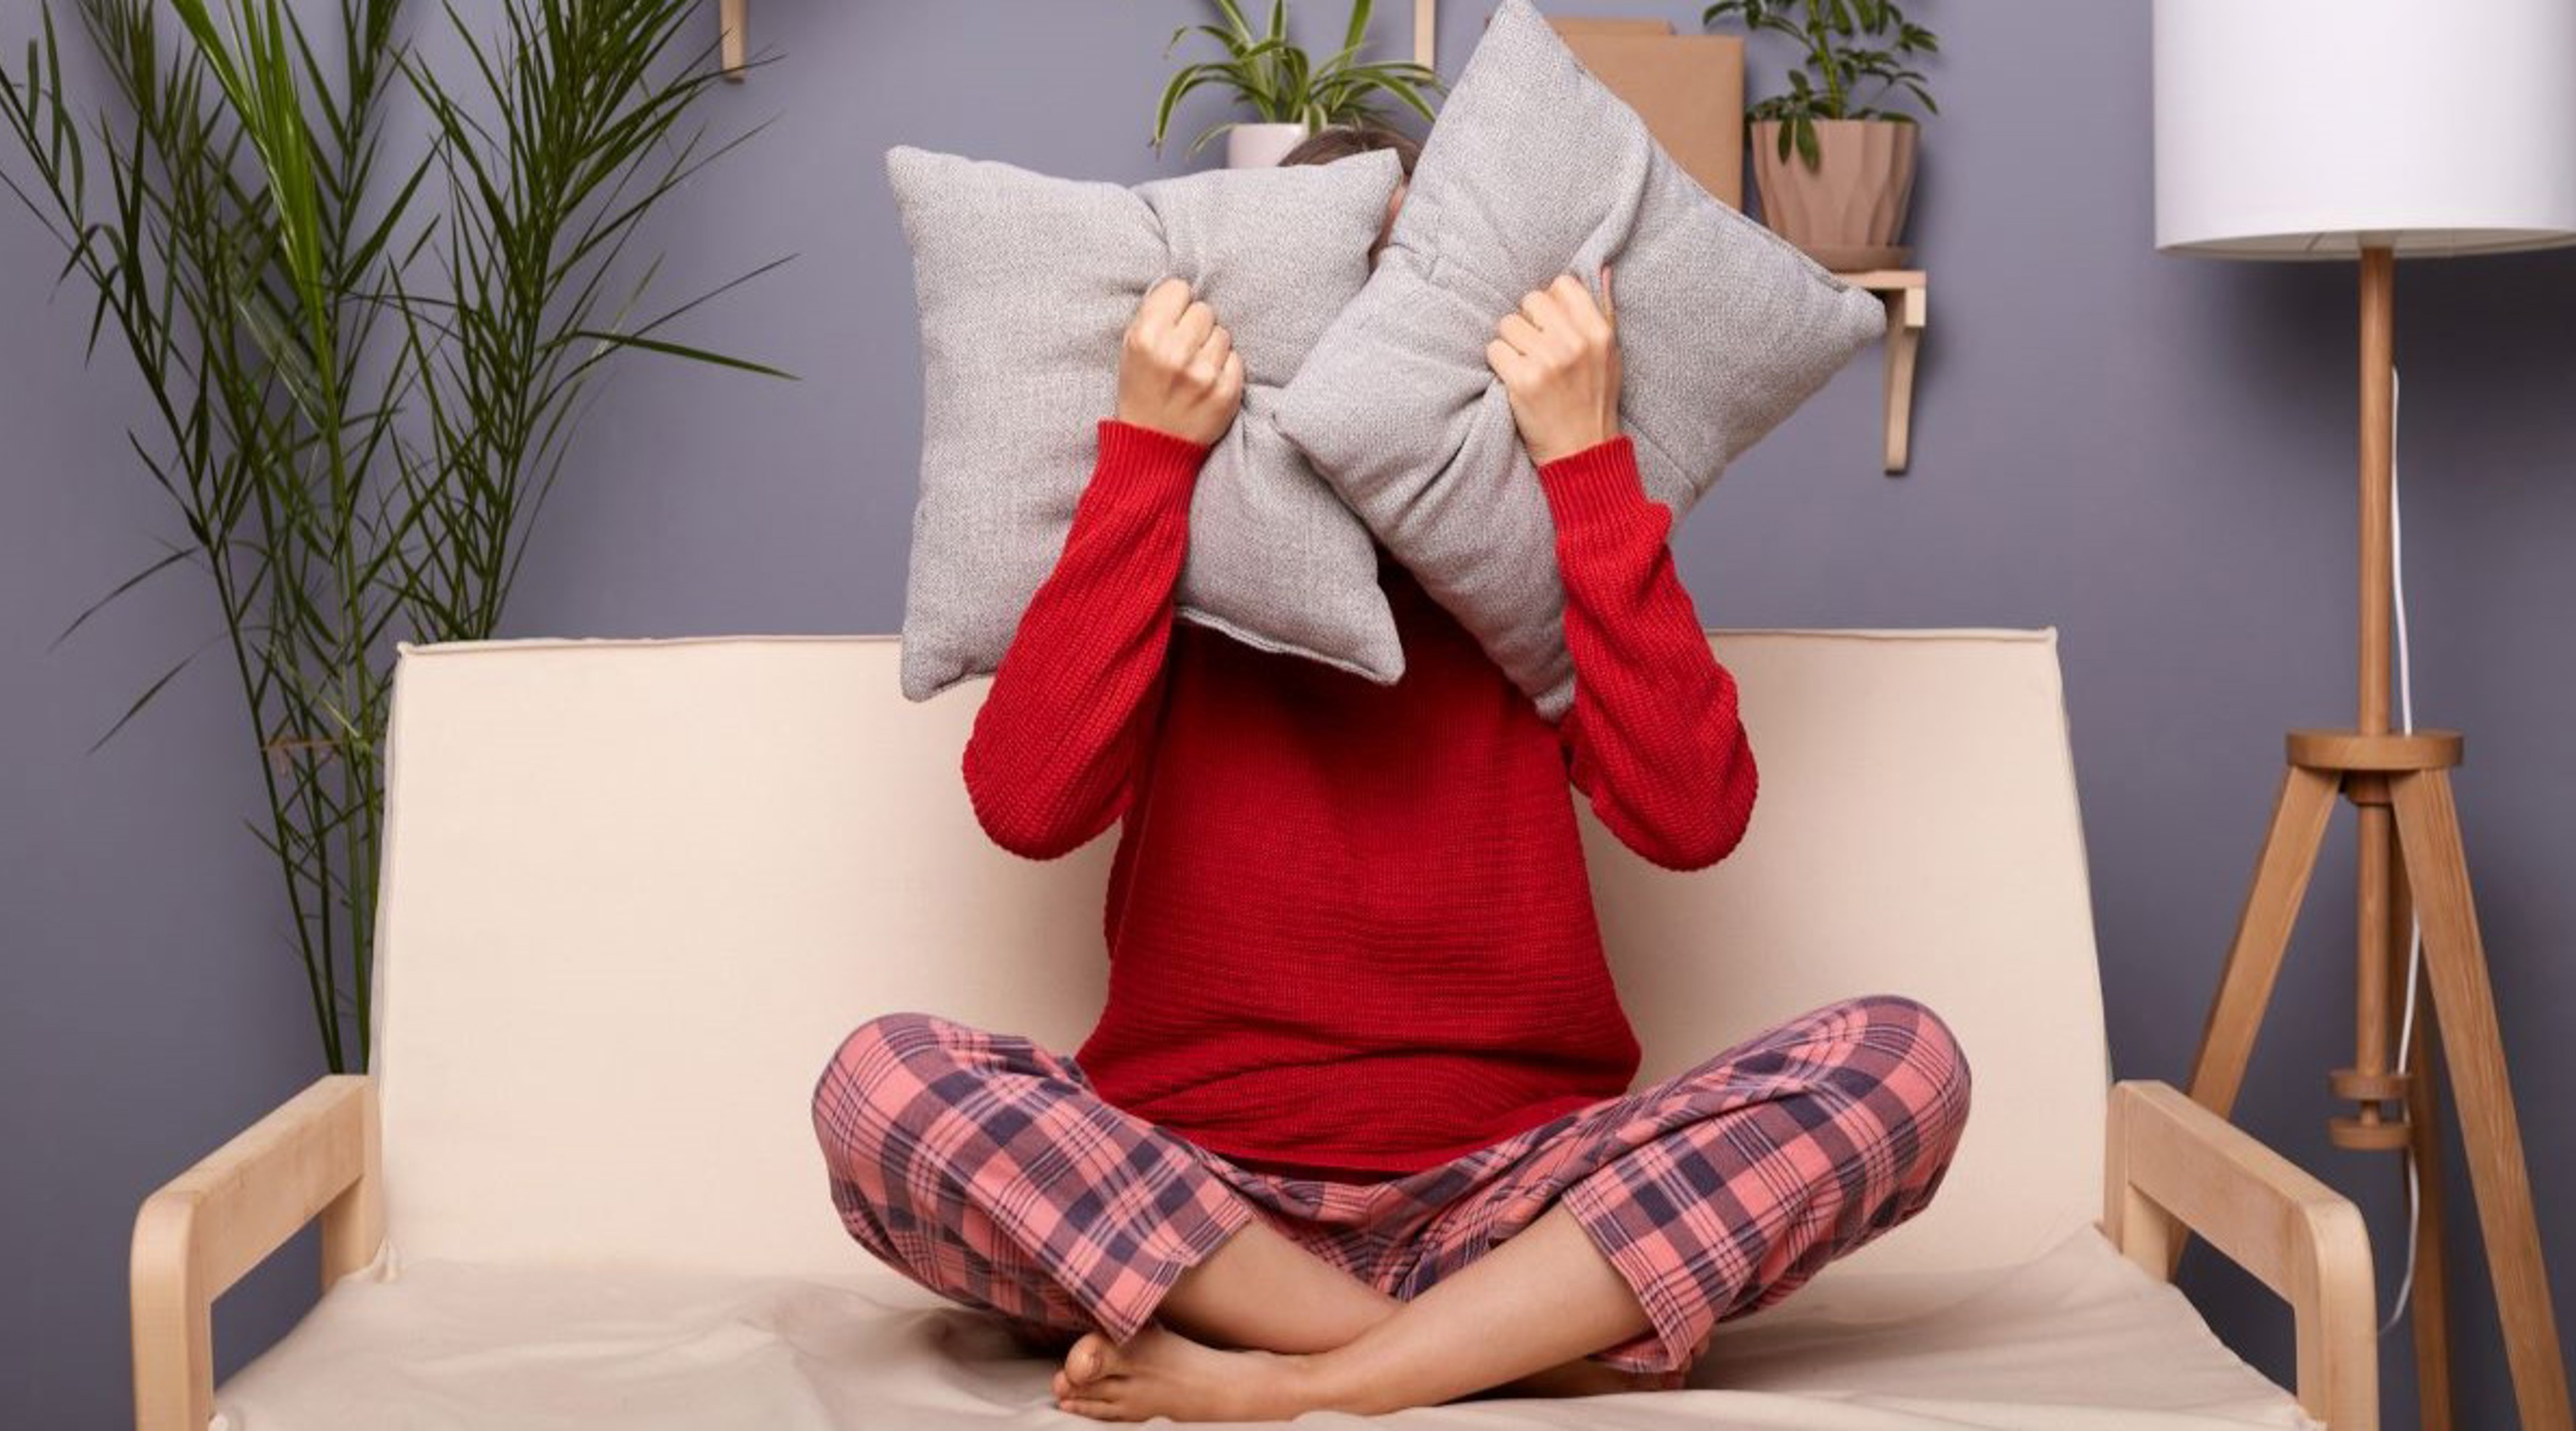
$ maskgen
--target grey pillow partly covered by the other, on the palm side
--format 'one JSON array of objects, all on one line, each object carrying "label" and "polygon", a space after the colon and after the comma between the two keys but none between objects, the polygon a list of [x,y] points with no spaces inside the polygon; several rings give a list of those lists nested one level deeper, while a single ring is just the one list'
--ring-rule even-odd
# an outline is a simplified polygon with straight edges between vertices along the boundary
[{"label": "grey pillow partly covered by the other, on the palm side", "polygon": [[1394,155],[1126,188],[894,147],[886,178],[922,315],[904,696],[984,676],[1010,650],[1115,413],[1126,325],[1164,276],[1216,309],[1244,358],[1244,413],[1190,498],[1180,616],[1381,683],[1404,670],[1368,529],[1270,420],[1368,281]]}]

